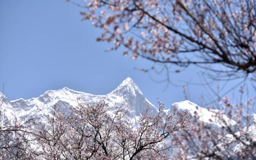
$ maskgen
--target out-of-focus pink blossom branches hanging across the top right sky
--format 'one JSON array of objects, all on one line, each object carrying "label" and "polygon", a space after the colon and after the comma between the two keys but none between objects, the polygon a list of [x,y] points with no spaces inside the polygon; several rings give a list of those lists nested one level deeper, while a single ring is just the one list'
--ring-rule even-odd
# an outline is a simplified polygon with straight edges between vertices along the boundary
[{"label": "out-of-focus pink blossom branches hanging across the top right sky", "polygon": [[255,73],[254,0],[71,2],[82,7],[83,20],[102,30],[97,41],[113,43],[108,50],[122,46],[123,54],[134,60],[179,68],[195,64],[219,77]]}]

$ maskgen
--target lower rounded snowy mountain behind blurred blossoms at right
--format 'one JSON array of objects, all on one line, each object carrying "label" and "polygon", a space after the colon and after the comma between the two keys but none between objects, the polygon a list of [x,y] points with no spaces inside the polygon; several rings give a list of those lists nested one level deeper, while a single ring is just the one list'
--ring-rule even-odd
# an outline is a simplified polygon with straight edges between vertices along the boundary
[{"label": "lower rounded snowy mountain behind blurred blossoms at right", "polygon": [[[203,122],[206,127],[215,128],[215,130],[219,130],[220,132],[227,127],[232,128],[232,134],[226,131],[226,135],[220,136],[218,144],[210,149],[224,160],[236,160],[234,157],[235,153],[246,149],[246,145],[252,145],[256,142],[256,114],[243,116],[239,122],[236,122],[228,118],[223,111],[202,108],[188,100],[173,103],[172,108],[168,112],[173,112],[175,109],[181,112],[188,111],[192,121]],[[197,116],[197,118],[194,118],[194,116]],[[239,140],[236,138],[239,138]],[[190,160],[199,159],[191,156]],[[205,160],[214,159],[206,158]]]}]

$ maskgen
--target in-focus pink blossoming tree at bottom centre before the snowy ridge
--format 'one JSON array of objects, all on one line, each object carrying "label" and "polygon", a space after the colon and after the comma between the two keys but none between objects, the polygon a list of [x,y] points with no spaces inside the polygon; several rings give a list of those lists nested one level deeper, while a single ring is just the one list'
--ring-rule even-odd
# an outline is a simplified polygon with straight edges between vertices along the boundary
[{"label": "in-focus pink blossoming tree at bottom centre before the snowy ridge", "polygon": [[36,133],[41,135],[38,139],[42,148],[39,158],[166,160],[178,157],[170,152],[178,147],[171,138],[175,132],[186,132],[190,116],[187,112],[167,115],[161,102],[159,106],[157,114],[145,108],[137,126],[127,118],[129,111],[124,110],[124,104],[116,106],[111,114],[104,100],[97,104],[79,103],[68,116],[54,112],[48,124]]}]

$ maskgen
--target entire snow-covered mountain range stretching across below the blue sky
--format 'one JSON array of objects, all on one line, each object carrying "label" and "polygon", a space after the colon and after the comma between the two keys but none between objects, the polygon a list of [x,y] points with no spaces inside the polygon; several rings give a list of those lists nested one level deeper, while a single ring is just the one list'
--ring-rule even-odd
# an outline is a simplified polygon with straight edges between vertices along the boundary
[{"label": "entire snow-covered mountain range stretching across below the blue sky", "polygon": [[[143,96],[142,92],[131,78],[126,78],[126,80],[124,80],[115,90],[106,95],[93,95],[64,87],[60,90],[48,90],[37,98],[31,98],[28,100],[20,98],[18,100],[9,101],[6,96],[0,93],[0,107],[8,119],[14,116],[18,118],[22,118],[24,116],[42,118],[43,114],[52,113],[52,106],[54,104],[60,106],[62,110],[66,111],[68,114],[69,108],[76,107],[78,105],[77,98],[79,98],[79,102],[84,103],[96,103],[104,98],[105,101],[109,103],[110,114],[113,113],[116,105],[119,106],[125,102],[124,107],[130,110],[128,118],[135,122],[135,124],[136,119],[140,114],[142,114],[146,106],[149,106],[152,113],[158,112],[158,108]],[[38,111],[38,109],[43,112]],[[237,135],[241,133],[240,130],[238,130],[240,127],[243,132],[246,133],[244,135],[248,135],[253,141],[256,141],[256,114],[243,117],[239,123],[240,126],[238,127],[237,122],[228,118],[224,112],[220,110],[202,108],[188,100],[173,103],[172,107],[166,111],[167,113],[171,113],[175,109],[180,110],[181,112],[188,111],[192,120],[204,122],[204,124],[212,128],[222,128],[227,125],[232,126],[232,128],[236,130]],[[195,115],[198,116],[198,119],[194,119]],[[226,123],[224,124],[223,121],[219,121],[214,118],[216,115],[221,116]],[[244,142],[249,143],[248,140],[245,140]],[[220,139],[218,146],[220,148],[224,148],[227,143],[232,144],[228,150],[225,150],[225,154],[229,157],[238,150],[244,148],[244,146],[241,145],[240,142],[237,142],[234,139],[234,136],[230,134],[227,134],[224,138]]]}]

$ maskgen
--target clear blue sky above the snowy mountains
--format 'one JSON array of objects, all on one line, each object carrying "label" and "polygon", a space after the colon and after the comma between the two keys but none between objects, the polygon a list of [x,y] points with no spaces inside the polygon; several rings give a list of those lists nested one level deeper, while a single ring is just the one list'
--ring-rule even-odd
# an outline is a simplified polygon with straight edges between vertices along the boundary
[{"label": "clear blue sky above the snowy mountains", "polygon": [[[107,94],[127,77],[153,104],[156,97],[168,107],[184,100],[182,85],[186,84],[192,102],[200,104],[201,94],[212,94],[208,86],[187,83],[200,83],[194,66],[171,73],[172,82],[178,86],[166,88],[166,83],[156,83],[149,74],[134,70],[149,67],[150,62],[124,57],[122,50],[105,52],[109,44],[96,42],[100,30],[81,21],[81,10],[65,0],[0,1],[0,85],[4,84],[4,94],[10,100],[38,97],[64,86]],[[166,76],[153,77],[162,80]],[[228,82],[222,93],[237,82]]]}]

